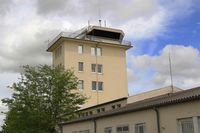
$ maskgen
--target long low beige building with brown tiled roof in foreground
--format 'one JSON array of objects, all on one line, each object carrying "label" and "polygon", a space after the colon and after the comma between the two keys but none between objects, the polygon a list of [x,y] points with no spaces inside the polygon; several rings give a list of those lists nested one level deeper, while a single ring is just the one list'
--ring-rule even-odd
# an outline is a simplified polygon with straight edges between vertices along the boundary
[{"label": "long low beige building with brown tiled roof in foreground", "polygon": [[141,99],[60,125],[62,133],[200,133],[200,87]]}]

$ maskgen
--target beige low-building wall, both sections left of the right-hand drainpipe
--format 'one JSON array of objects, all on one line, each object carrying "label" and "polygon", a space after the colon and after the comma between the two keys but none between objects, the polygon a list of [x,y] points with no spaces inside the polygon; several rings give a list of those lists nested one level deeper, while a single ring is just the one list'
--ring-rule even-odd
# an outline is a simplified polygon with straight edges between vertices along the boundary
[{"label": "beige low-building wall, both sections left of the right-hand drainpipe", "polygon": [[[156,133],[157,131],[156,125],[154,124],[156,123],[155,112],[152,110],[97,119],[96,129],[97,133],[104,133],[104,128],[112,127],[112,133],[116,133],[117,126],[128,125],[129,133],[134,133],[134,125],[138,123],[145,123],[148,133]],[[80,131],[84,129],[89,129],[90,133],[94,133],[94,122],[88,121],[66,125],[63,127],[63,133],[72,133],[72,131]]]}]

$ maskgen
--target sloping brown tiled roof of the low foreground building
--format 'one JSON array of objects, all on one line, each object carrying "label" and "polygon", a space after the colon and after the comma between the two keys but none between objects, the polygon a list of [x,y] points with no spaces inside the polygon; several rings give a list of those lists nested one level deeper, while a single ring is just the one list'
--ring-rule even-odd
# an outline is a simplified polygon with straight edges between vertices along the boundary
[{"label": "sloping brown tiled roof of the low foreground building", "polygon": [[195,101],[195,100],[200,100],[200,87],[145,99],[145,100],[138,101],[135,103],[127,104],[126,106],[118,108],[118,109],[102,112],[99,114],[94,114],[94,115],[83,117],[83,118],[78,118],[78,119],[63,122],[60,124],[67,125],[67,124],[81,122],[81,121],[93,120],[93,119],[109,117],[113,115],[120,115],[124,113],[130,113],[134,111],[167,106],[167,105],[172,105],[172,104],[179,104],[179,103]]}]

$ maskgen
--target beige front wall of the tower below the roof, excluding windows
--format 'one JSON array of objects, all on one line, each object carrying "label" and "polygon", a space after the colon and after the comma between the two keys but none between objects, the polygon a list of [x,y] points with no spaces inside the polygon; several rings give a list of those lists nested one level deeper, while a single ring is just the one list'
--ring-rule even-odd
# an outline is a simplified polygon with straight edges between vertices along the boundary
[{"label": "beige front wall of the tower below the roof, excluding windows", "polygon": [[[128,96],[126,50],[124,48],[73,41],[65,41],[63,44],[65,68],[74,69],[75,75],[80,80],[84,80],[84,90],[80,92],[89,98],[84,107]],[[78,54],[78,45],[84,45],[83,54]],[[91,55],[91,47],[96,45],[102,48],[102,56]],[[84,72],[78,72],[78,62],[84,62]],[[103,73],[92,73],[91,64],[102,64]],[[92,81],[102,81],[104,90],[93,91]]]}]

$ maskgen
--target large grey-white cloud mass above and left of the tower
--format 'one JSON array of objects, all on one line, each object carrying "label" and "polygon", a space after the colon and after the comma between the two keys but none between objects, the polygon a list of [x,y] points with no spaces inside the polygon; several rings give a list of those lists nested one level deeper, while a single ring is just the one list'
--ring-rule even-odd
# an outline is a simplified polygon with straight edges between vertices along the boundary
[{"label": "large grey-white cloud mass above and left of the tower", "polygon": [[179,15],[174,10],[189,13],[194,6],[192,0],[173,3],[165,5],[157,0],[1,0],[0,72],[18,72],[19,66],[25,64],[50,64],[51,56],[45,51],[45,42],[60,31],[86,26],[87,20],[105,19],[108,25],[112,23],[123,29],[127,37],[134,40],[156,38],[167,32],[170,20]]}]

